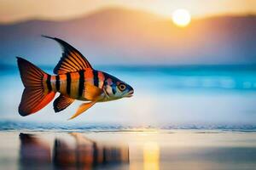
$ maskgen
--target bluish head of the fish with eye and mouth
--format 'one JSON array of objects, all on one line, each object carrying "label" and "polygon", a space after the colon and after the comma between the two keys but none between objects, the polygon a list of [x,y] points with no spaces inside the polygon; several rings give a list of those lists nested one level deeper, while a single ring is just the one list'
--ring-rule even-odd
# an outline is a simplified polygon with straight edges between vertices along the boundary
[{"label": "bluish head of the fish with eye and mouth", "polygon": [[129,84],[110,75],[108,75],[105,81],[104,89],[108,99],[130,98],[134,93],[133,88]]}]

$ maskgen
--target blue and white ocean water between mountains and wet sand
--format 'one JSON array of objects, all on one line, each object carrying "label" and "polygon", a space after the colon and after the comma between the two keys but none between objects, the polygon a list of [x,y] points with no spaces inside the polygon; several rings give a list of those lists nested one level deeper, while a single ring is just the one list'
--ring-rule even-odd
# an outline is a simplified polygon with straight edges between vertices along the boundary
[{"label": "blue and white ocean water between mountains and wet sand", "polygon": [[[52,73],[53,67],[42,68]],[[134,96],[96,104],[73,121],[67,121],[81,102],[60,113],[55,113],[50,103],[32,116],[20,116],[17,110],[23,85],[19,72],[15,66],[2,66],[0,128],[27,129],[31,125],[31,128],[102,127],[103,130],[255,129],[255,65],[108,65],[96,66],[96,69],[129,83],[135,89]]]}]

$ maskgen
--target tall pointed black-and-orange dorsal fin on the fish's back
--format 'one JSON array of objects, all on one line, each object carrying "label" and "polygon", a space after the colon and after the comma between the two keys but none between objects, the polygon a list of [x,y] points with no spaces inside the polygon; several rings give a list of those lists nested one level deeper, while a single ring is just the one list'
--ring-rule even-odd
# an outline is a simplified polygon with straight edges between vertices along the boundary
[{"label": "tall pointed black-and-orange dorsal fin on the fish's back", "polygon": [[63,40],[56,37],[42,37],[47,37],[55,40],[56,42],[59,42],[63,50],[61,60],[55,66],[55,74],[66,74],[67,72],[76,72],[84,70],[86,68],[92,69],[89,61],[85,59],[84,55],[81,54],[76,48],[73,48],[67,42],[64,42]]}]

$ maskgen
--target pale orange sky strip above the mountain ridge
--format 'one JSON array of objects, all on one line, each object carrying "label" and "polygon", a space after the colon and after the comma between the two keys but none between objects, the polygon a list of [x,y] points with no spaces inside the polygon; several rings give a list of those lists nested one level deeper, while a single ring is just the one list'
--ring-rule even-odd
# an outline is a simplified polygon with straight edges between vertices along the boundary
[{"label": "pale orange sky strip above the mountain ridge", "polygon": [[166,17],[177,8],[188,9],[194,18],[256,14],[255,0],[0,0],[0,22],[34,18],[65,20],[108,7],[138,8]]}]

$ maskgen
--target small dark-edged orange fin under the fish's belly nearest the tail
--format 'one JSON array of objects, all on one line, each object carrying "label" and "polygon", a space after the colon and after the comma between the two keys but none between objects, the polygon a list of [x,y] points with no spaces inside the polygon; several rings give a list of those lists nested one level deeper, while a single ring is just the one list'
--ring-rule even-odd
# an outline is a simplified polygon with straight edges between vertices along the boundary
[{"label": "small dark-edged orange fin under the fish's belly nearest the tail", "polygon": [[54,101],[54,109],[55,112],[63,111],[67,108],[68,105],[71,105],[73,103],[74,99],[68,98],[62,94]]}]

